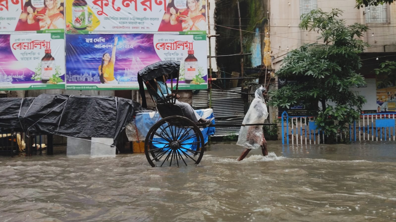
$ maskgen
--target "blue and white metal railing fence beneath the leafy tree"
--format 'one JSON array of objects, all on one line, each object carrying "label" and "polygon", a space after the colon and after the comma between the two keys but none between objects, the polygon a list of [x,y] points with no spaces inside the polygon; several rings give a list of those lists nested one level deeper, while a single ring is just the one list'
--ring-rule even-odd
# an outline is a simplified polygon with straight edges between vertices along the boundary
[{"label": "blue and white metal railing fence beneath the leafy tree", "polygon": [[[282,144],[320,144],[327,136],[312,116],[289,117],[284,111],[281,122]],[[360,120],[349,124],[348,130],[338,132],[337,139],[395,141],[395,126],[395,113],[362,114]]]}]

